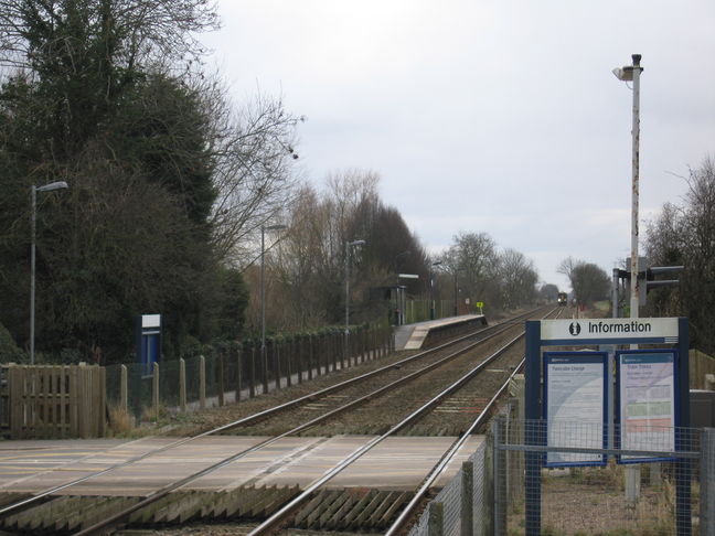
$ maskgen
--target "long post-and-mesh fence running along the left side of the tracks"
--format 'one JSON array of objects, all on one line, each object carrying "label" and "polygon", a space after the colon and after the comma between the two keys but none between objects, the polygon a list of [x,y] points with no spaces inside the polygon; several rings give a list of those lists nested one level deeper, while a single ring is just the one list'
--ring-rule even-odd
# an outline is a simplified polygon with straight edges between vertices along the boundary
[{"label": "long post-and-mesh fence running along the left side of the tracks", "polygon": [[153,418],[161,408],[215,406],[291,386],[332,371],[383,357],[394,351],[388,328],[340,330],[270,337],[260,345],[233,343],[206,355],[162,361],[150,369],[139,363],[106,367],[107,403],[136,418]]}]

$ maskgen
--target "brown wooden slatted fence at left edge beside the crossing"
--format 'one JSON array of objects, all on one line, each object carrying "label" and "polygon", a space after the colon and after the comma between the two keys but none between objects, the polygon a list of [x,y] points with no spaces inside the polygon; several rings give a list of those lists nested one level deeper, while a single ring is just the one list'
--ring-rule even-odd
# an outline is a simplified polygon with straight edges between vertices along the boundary
[{"label": "brown wooden slatted fence at left edge beside the crossing", "polygon": [[0,366],[0,431],[11,439],[103,437],[100,366]]}]

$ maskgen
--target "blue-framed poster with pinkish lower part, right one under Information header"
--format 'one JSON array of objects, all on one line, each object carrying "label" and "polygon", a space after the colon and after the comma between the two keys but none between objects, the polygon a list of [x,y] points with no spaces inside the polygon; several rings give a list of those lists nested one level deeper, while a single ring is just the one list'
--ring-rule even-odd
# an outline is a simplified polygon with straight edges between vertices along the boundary
[{"label": "blue-framed poster with pinkish lower part, right one under Information header", "polygon": [[[630,350],[616,353],[621,450],[675,450],[677,352]],[[619,457],[621,463],[663,458]]]}]

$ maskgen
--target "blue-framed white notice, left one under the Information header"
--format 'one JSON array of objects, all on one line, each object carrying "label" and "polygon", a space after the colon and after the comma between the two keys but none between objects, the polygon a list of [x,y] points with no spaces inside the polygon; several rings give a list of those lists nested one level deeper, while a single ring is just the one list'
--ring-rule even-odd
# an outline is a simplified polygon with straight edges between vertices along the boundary
[{"label": "blue-framed white notice, left one under the Information header", "polygon": [[[606,448],[608,354],[544,354],[544,420],[548,447]],[[602,454],[549,451],[546,467],[604,465]]]}]

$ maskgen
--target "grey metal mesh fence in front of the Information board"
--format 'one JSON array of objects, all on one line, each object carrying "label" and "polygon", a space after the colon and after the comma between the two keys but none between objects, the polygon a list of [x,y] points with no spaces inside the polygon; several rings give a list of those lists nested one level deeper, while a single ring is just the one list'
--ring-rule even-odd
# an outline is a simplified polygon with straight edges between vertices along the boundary
[{"label": "grey metal mesh fence in front of the Information board", "polygon": [[715,430],[494,420],[494,534],[715,535]]}]

